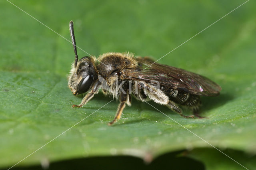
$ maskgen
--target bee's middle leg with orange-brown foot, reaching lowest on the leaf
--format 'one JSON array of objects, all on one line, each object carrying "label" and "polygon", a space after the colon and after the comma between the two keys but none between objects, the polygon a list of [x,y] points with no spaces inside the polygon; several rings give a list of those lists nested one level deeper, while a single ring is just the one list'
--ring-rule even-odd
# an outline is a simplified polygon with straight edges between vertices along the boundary
[{"label": "bee's middle leg with orange-brown foot, reaching lowest on the leaf", "polygon": [[115,118],[112,122],[108,123],[109,126],[113,125],[113,123],[115,123],[117,120],[119,120],[121,118],[122,112],[123,112],[124,107],[125,107],[125,103],[127,103],[128,100],[129,100],[128,103],[130,103],[130,94],[128,94],[128,93],[124,94],[123,92],[121,92],[119,98],[120,98],[120,104],[118,106],[116,116],[115,116]]}]

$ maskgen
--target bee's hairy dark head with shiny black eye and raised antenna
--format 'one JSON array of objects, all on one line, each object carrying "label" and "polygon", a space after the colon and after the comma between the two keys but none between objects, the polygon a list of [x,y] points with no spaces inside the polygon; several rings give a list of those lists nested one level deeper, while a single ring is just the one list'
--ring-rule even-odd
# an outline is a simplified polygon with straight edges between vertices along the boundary
[{"label": "bee's hairy dark head with shiny black eye and raised antenna", "polygon": [[94,80],[98,78],[98,76],[93,58],[82,57],[78,61],[72,21],[70,21],[69,28],[76,57],[74,63],[72,63],[70,75],[68,76],[68,87],[74,95],[78,95],[86,93],[92,86]]}]

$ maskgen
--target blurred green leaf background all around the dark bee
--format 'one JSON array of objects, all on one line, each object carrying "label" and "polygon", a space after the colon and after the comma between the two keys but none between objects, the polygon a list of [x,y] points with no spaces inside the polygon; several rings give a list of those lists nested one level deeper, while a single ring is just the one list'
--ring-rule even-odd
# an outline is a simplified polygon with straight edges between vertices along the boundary
[{"label": "blurred green leaf background all around the dark bee", "polygon": [[[245,1],[11,0],[13,4],[90,55],[130,51],[159,59]],[[67,87],[72,44],[0,2],[0,168],[9,168],[109,101]],[[256,169],[256,2],[248,1],[159,63],[202,74],[221,85],[203,97],[201,115],[184,119],[150,102],[248,169]],[[87,56],[78,49],[78,56]],[[112,127],[112,101],[12,169],[244,169],[146,103],[132,99]],[[185,111],[185,114],[190,114]],[[146,163],[145,163],[146,162]]]}]

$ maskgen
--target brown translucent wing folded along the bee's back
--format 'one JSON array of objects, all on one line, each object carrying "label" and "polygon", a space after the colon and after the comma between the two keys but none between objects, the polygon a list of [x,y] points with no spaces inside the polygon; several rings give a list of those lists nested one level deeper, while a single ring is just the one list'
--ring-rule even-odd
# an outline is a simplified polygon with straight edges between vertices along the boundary
[{"label": "brown translucent wing folded along the bee's back", "polygon": [[147,57],[138,57],[136,61],[139,69],[134,71],[127,70],[126,76],[146,81],[147,83],[158,81],[162,86],[188,91],[195,95],[216,96],[220,93],[221,87],[202,75],[154,63]]}]

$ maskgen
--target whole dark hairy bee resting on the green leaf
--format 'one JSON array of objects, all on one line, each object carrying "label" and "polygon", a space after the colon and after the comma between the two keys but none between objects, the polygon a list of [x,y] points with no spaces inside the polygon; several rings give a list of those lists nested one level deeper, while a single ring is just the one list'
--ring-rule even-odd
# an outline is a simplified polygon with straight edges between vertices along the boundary
[{"label": "whole dark hairy bee resting on the green leaf", "polygon": [[182,117],[179,105],[197,113],[201,105],[200,96],[217,96],[221,87],[210,79],[168,65],[155,63],[149,57],[134,57],[132,53],[104,53],[98,57],[82,57],[78,60],[73,22],[70,21],[75,61],[68,76],[68,87],[74,95],[86,93],[79,105],[82,107],[102,89],[120,101],[112,125],[122,115],[124,107],[131,105],[133,95],[139,101],[152,100],[165,105]]}]

